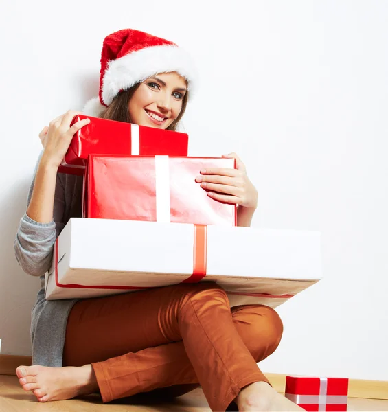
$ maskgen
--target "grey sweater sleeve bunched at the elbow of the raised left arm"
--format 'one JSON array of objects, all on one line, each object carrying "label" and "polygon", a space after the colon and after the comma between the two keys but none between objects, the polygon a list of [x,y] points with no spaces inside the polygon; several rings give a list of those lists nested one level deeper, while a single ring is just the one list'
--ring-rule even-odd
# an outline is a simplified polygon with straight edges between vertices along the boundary
[{"label": "grey sweater sleeve bunched at the elbow of the raised left arm", "polygon": [[[30,204],[36,172],[43,152],[36,162],[34,177],[28,193],[27,207]],[[14,253],[16,260],[25,273],[32,276],[41,276],[49,269],[52,262],[54,242],[64,227],[63,214],[65,211],[65,188],[56,176],[56,189],[54,197],[54,220],[49,223],[39,223],[32,220],[25,213],[19,223],[19,228],[14,240]]]}]

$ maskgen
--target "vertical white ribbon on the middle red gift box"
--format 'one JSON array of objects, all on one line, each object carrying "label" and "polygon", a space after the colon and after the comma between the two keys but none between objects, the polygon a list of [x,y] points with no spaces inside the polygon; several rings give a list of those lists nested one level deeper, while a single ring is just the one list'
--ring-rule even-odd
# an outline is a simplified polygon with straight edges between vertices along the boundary
[{"label": "vertical white ribbon on the middle red gift box", "polygon": [[157,222],[170,223],[170,165],[168,156],[155,156]]}]

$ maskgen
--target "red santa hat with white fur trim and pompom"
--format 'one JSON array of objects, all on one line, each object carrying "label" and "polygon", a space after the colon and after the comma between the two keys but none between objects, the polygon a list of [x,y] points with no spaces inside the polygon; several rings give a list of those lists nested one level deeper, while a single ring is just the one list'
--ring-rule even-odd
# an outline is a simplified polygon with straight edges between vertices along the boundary
[{"label": "red santa hat with white fur trim and pompom", "polygon": [[124,29],[104,39],[101,53],[100,91],[84,106],[86,115],[98,117],[115,96],[157,73],[176,71],[193,93],[196,73],[190,56],[172,41]]}]

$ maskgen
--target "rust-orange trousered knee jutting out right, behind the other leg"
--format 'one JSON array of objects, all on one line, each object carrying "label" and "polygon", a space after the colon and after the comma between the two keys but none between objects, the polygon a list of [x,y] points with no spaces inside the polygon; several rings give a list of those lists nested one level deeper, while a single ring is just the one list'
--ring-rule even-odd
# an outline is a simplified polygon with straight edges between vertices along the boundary
[{"label": "rust-orange trousered knee jutting out right, behind the other leg", "polygon": [[252,306],[248,309],[249,321],[240,327],[245,345],[256,362],[275,352],[283,334],[283,322],[279,314],[269,306]]}]

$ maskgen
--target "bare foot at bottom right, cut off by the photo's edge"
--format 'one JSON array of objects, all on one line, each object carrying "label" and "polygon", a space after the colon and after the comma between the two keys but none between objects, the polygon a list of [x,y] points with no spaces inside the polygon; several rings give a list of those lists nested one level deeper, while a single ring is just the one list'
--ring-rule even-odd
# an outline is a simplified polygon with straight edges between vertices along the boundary
[{"label": "bare foot at bottom right, cut off by the photo's edge", "polygon": [[248,411],[304,411],[299,405],[277,393],[266,382],[254,382],[241,389],[235,400],[238,410]]}]

